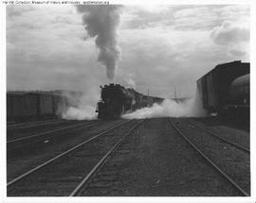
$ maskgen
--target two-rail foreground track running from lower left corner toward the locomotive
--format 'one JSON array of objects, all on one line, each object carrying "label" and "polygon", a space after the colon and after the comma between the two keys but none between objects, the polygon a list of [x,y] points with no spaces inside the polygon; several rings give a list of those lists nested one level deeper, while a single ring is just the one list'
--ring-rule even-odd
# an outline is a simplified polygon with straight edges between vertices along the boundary
[{"label": "two-rail foreground track running from lower left corner toward the locomotive", "polygon": [[[135,122],[136,125],[133,124]],[[29,189],[27,189],[26,187],[30,187],[31,190],[36,189],[37,191],[40,191],[40,188],[37,188],[37,186],[42,186],[45,188],[45,190],[48,189],[48,191],[45,191],[46,194],[44,195],[49,195],[50,193],[53,193],[52,190],[54,189],[57,190],[57,195],[77,195],[80,189],[82,188],[82,185],[86,184],[86,182],[99,170],[104,161],[106,161],[107,158],[115,151],[119,144],[121,144],[123,140],[140,124],[141,122],[137,123],[137,121],[134,120],[124,122],[122,121],[114,127],[109,127],[108,129],[102,131],[101,133],[83,141],[81,144],[77,144],[69,148],[68,150],[64,151],[62,154],[59,154],[58,156],[32,168],[26,173],[16,178],[12,178],[11,180],[9,180],[7,184],[8,195],[27,195],[29,191],[27,193],[25,191]],[[129,125],[132,125],[132,127]],[[121,138],[119,138],[119,133],[114,133],[115,129],[119,129],[119,127],[126,127],[124,135],[121,136]],[[114,134],[109,134],[111,132]],[[113,141],[113,139],[115,140],[115,142]],[[101,144],[97,142],[100,142]],[[92,154],[91,152],[90,154],[86,154],[86,150],[89,150],[90,147],[97,146],[98,149],[101,150],[103,146],[107,144],[112,144],[113,142],[115,144],[112,145],[111,149],[108,149],[107,153],[104,154],[103,156],[102,154],[97,154],[97,150],[93,151],[96,154]],[[85,145],[86,147],[83,147]],[[99,157],[101,157],[100,161]],[[94,160],[97,160],[96,164]],[[91,161],[93,161],[93,163]],[[64,165],[65,167],[63,167]],[[89,166],[91,166],[91,168],[88,171],[88,173],[86,173],[86,175],[84,176],[83,170],[85,170],[85,168],[88,168]],[[72,170],[72,168],[74,170]],[[66,171],[71,173],[69,177],[66,177]],[[84,178],[81,178],[81,176],[84,176]],[[38,183],[38,181],[41,182]],[[52,182],[51,186],[53,188],[48,187],[46,185],[42,185],[42,182],[45,182],[46,185],[47,183]],[[38,185],[32,185],[33,183]],[[60,186],[60,184],[64,184],[63,188]],[[55,187],[55,185],[57,188]]]}]

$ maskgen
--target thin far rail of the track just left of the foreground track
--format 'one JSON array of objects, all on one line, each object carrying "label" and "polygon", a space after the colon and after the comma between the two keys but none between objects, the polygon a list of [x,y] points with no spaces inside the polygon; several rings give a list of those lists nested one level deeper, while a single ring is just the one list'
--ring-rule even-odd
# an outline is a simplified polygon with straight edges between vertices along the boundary
[{"label": "thin far rail of the track just left of the foreground track", "polygon": [[19,141],[24,141],[24,140],[28,140],[30,138],[34,138],[34,137],[39,137],[39,136],[42,136],[42,135],[46,135],[46,134],[51,134],[51,133],[54,133],[54,132],[60,132],[60,131],[63,131],[65,129],[70,129],[70,128],[74,128],[74,127],[86,127],[86,125],[91,125],[91,124],[95,124],[95,123],[98,123],[99,121],[97,122],[91,122],[91,123],[83,123],[83,124],[76,124],[76,125],[73,125],[73,126],[70,126],[70,127],[62,127],[62,128],[58,128],[58,129],[53,129],[53,130],[48,130],[46,132],[41,132],[41,133],[38,133],[38,134],[35,134],[35,135],[29,135],[29,136],[26,136],[26,137],[22,137],[22,138],[16,138],[16,139],[13,139],[13,140],[10,140],[7,142],[7,144],[12,144],[12,143],[15,143],[15,142],[19,142]]}]

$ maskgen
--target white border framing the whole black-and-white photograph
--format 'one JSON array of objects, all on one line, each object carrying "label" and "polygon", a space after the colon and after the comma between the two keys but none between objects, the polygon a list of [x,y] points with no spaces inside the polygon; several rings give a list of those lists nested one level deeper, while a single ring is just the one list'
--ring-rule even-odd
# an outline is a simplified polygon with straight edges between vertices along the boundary
[{"label": "white border framing the whole black-and-white photograph", "polygon": [[[17,2],[21,2],[17,1]],[[26,1],[26,0],[25,0]],[[38,1],[38,0],[37,0]],[[44,1],[44,0],[40,0]],[[81,0],[69,0],[69,1],[80,1]],[[95,2],[95,0],[93,0]],[[14,2],[16,2],[14,0]],[[249,5],[250,6],[250,164],[251,164],[251,196],[250,197],[7,197],[7,163],[6,163],[6,5],[3,4],[3,0],[0,3],[1,11],[1,79],[0,79],[0,101],[1,101],[1,136],[0,136],[0,203],[46,203],[46,202],[61,202],[61,203],[77,203],[77,202],[175,202],[175,203],[255,203],[256,202],[256,126],[255,123],[255,106],[256,104],[256,70],[255,70],[255,59],[256,59],[256,1],[255,0],[111,0],[110,4],[120,5],[143,5],[143,4],[161,4],[161,5]]]}]

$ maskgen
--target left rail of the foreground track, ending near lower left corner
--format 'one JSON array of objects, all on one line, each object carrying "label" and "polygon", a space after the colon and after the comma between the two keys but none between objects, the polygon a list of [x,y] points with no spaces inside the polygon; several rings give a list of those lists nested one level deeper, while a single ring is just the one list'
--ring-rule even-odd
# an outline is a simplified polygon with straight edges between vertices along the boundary
[{"label": "left rail of the foreground track, ending near lower left corner", "polygon": [[110,128],[108,128],[108,129],[104,130],[103,132],[101,132],[101,133],[99,133],[99,134],[93,136],[92,138],[89,138],[89,139],[87,139],[86,141],[83,141],[81,144],[77,144],[77,145],[75,145],[75,146],[69,148],[68,150],[64,151],[63,153],[57,155],[56,157],[54,157],[54,158],[52,158],[52,159],[50,159],[50,160],[48,160],[48,161],[45,161],[44,163],[42,163],[42,164],[36,166],[35,168],[33,168],[33,169],[27,171],[27,172],[24,173],[23,175],[21,175],[21,176],[19,176],[19,177],[17,177],[17,178],[13,178],[12,180],[10,180],[10,181],[7,183],[7,187],[9,187],[10,185],[16,183],[17,181],[21,180],[22,178],[26,178],[28,175],[31,175],[32,173],[34,173],[34,172],[38,171],[39,169],[45,167],[45,166],[48,165],[49,163],[51,163],[51,162],[53,162],[53,161],[57,161],[57,160],[59,160],[60,158],[64,157],[65,155],[67,155],[67,154],[69,154],[69,153],[71,153],[71,152],[73,152],[73,151],[79,149],[80,147],[82,147],[82,145],[88,144],[89,142],[94,141],[94,140],[96,140],[97,138],[99,138],[101,135],[104,135],[104,134],[106,134],[107,132],[109,132],[109,131],[111,131],[111,130],[114,130],[114,129],[117,128],[117,127],[123,126],[123,125],[125,125],[125,124],[127,124],[127,123],[129,123],[129,122],[131,122],[131,121],[132,121],[132,120],[129,120],[129,121],[126,121],[126,122],[121,122],[121,124],[118,124],[118,125],[116,125],[116,126],[114,126],[114,127],[110,127]]}]

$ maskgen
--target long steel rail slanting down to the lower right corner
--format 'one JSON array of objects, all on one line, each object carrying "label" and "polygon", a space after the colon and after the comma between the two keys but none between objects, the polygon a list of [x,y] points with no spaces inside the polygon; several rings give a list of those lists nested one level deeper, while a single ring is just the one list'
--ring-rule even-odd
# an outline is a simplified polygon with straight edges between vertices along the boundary
[{"label": "long steel rail slanting down to the lower right corner", "polygon": [[192,144],[192,142],[184,135],[184,133],[174,125],[174,122],[169,118],[168,121],[174,127],[174,129],[180,134],[189,144],[192,145],[192,148],[195,149],[206,161],[210,163],[224,178],[228,179],[229,182],[234,186],[242,195],[249,196],[247,192],[241,188],[232,178],[229,177],[225,172],[223,172],[213,161],[210,160],[197,146]]}]

